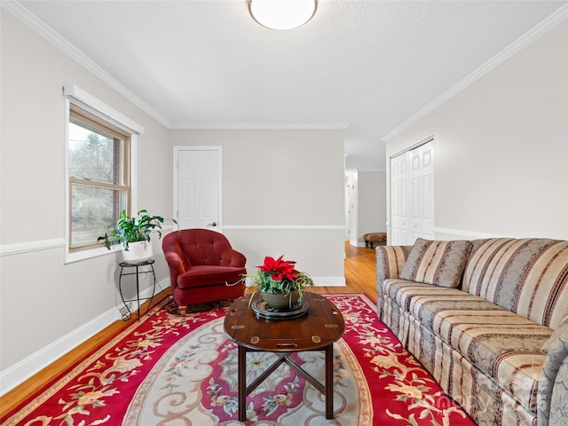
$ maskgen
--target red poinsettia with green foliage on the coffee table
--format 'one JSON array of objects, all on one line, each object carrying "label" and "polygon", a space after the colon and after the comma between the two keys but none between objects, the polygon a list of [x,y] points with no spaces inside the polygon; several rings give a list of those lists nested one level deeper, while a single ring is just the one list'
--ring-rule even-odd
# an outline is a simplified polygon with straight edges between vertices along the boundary
[{"label": "red poinsettia with green foliage on the coffee table", "polygon": [[256,284],[256,291],[270,294],[288,295],[297,291],[302,295],[302,290],[313,286],[312,277],[307,272],[296,270],[296,262],[284,260],[284,256],[275,259],[271,256],[264,257],[264,264],[256,266],[258,272],[254,275],[246,275],[253,284]]}]

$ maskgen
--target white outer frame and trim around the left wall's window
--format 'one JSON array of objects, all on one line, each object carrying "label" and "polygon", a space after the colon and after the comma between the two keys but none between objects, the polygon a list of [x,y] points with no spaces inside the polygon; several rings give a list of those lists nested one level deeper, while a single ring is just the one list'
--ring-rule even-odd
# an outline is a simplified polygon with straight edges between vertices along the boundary
[{"label": "white outer frame and trim around the left wall's window", "polygon": [[77,262],[92,257],[104,256],[119,251],[120,245],[115,245],[108,250],[105,247],[89,248],[85,250],[71,252],[69,250],[71,235],[69,226],[70,200],[69,200],[69,104],[80,106],[85,111],[97,115],[99,118],[114,124],[130,133],[130,210],[138,211],[138,135],[144,133],[144,127],[130,118],[119,113],[111,106],[95,98],[91,94],[83,91],[75,85],[66,85],[63,87],[63,95],[65,96],[65,263]]}]

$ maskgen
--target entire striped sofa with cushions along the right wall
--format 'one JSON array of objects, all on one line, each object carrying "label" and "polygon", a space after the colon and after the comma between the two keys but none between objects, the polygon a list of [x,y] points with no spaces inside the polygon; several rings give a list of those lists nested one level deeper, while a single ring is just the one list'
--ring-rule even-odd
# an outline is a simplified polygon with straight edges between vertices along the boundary
[{"label": "entire striped sofa with cushions along the right wall", "polygon": [[477,424],[568,424],[568,241],[375,250],[379,318]]}]

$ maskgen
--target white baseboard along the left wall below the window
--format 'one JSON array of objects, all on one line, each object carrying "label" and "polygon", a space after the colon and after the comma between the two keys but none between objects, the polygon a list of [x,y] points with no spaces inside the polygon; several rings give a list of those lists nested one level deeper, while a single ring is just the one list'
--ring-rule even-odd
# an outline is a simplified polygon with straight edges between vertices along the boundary
[{"label": "white baseboard along the left wall below the window", "polygon": [[[158,283],[160,288],[170,286],[170,278]],[[156,294],[161,290],[156,286]],[[140,293],[140,298],[152,296],[152,288],[146,288]],[[68,351],[75,349],[80,344],[96,335],[101,330],[111,325],[114,321],[122,319],[120,308],[115,306],[106,312],[101,313],[97,318],[75,328],[72,332],[64,335],[53,343],[48,344],[40,351],[36,351],[20,362],[8,367],[0,372],[0,396],[12,390],[20,383],[25,382],[31,376],[39,373],[43,368],[48,367],[52,362],[61,358]],[[138,306],[132,305],[132,311],[136,311]],[[136,315],[136,313],[134,313]]]}]

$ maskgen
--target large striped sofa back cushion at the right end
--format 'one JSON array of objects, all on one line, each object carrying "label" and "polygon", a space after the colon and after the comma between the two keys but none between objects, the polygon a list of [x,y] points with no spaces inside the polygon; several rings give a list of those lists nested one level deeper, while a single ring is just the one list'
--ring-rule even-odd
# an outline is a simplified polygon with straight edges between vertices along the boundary
[{"label": "large striped sofa back cushion at the right end", "polygon": [[568,312],[568,241],[472,241],[462,289],[553,329]]}]

